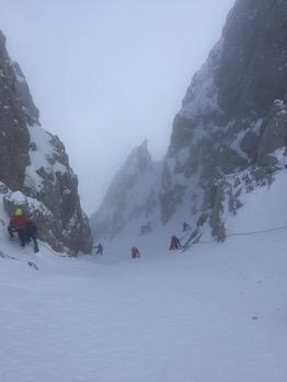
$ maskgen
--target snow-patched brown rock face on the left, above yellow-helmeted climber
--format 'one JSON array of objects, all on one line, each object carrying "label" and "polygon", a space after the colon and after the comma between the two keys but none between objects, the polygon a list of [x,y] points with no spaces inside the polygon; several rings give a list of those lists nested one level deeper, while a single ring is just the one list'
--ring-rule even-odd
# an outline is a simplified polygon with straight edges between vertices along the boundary
[{"label": "snow-patched brown rock face on the left, above yellow-helmeted climber", "polygon": [[91,231],[77,176],[64,144],[41,127],[38,117],[24,74],[10,59],[0,32],[0,181],[7,211],[26,209],[39,227],[39,238],[55,250],[90,253]]}]

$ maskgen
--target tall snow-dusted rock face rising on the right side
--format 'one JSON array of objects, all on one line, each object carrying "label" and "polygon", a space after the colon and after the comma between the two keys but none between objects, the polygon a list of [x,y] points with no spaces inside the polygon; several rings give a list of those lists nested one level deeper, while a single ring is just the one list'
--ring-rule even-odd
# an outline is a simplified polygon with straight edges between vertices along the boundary
[{"label": "tall snow-dusted rock face rising on the right side", "polygon": [[156,192],[161,223],[187,220],[225,240],[226,216],[273,183],[286,148],[287,2],[238,0],[174,118]]}]

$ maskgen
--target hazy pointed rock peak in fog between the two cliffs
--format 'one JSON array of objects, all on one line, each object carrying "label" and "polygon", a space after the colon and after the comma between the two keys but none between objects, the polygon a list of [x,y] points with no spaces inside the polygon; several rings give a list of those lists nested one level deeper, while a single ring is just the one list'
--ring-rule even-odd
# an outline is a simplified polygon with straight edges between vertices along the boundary
[{"label": "hazy pointed rock peak in fog between the two cliffs", "polygon": [[135,234],[154,229],[160,170],[161,163],[151,160],[147,141],[133,150],[90,219],[96,241],[113,239],[127,225]]}]

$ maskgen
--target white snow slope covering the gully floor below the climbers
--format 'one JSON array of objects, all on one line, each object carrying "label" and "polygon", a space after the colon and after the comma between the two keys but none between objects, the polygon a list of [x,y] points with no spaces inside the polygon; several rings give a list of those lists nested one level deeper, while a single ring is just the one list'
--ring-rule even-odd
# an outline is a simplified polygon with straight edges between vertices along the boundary
[{"label": "white snow slope covering the gully floor below the climbers", "polygon": [[[246,194],[230,232],[287,225],[286,186],[283,172]],[[186,252],[169,240],[123,236],[69,258],[22,250],[0,228],[15,257],[0,257],[0,381],[286,381],[287,230]]]}]

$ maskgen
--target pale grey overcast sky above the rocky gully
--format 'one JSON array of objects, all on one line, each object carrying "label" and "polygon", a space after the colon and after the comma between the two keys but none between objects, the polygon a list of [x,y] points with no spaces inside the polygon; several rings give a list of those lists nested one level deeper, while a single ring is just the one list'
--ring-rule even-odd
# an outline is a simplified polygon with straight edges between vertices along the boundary
[{"label": "pale grey overcast sky above the rocky gully", "polygon": [[145,139],[167,152],[192,77],[234,0],[0,0],[0,28],[45,129],[64,141],[95,211]]}]

